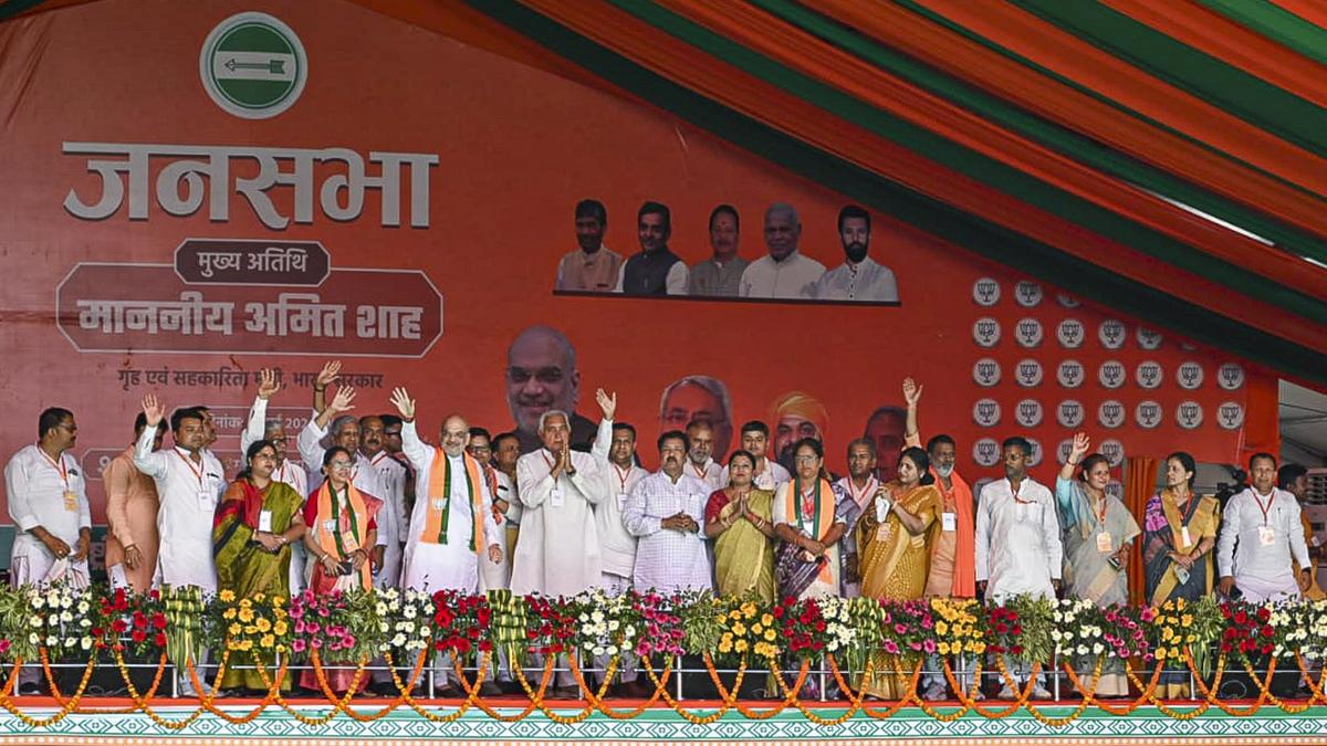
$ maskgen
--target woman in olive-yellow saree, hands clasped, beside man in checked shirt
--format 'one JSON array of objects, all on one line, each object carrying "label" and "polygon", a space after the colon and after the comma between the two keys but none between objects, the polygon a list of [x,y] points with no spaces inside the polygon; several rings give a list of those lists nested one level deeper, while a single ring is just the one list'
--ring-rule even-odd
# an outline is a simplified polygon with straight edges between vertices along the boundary
[{"label": "woman in olive-yellow saree, hands clasped, beside man in checked shirt", "polygon": [[729,486],[705,504],[705,535],[714,540],[714,580],[721,596],[755,593],[774,603],[774,492],[751,483],[755,457],[733,451]]}]

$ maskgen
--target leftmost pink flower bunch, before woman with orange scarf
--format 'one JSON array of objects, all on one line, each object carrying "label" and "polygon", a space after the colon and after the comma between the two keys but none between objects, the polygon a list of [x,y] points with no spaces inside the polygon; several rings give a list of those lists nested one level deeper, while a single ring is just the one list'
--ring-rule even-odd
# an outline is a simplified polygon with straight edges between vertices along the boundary
[{"label": "leftmost pink flower bunch, before woman with orange scarf", "polygon": [[324,661],[372,657],[382,642],[378,621],[373,617],[376,603],[369,591],[296,595],[289,611],[295,660],[308,660],[314,650]]}]

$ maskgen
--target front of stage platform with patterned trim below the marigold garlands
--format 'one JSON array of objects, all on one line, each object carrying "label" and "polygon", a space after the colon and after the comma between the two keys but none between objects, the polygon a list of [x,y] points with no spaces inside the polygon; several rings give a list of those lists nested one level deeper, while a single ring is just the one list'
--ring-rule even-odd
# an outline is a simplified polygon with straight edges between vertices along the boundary
[{"label": "front of stage platform with patterned trim below the marigold garlands", "polygon": [[1128,715],[1095,705],[1080,710],[1079,702],[1030,704],[1005,714],[1011,702],[987,701],[983,709],[1003,717],[969,710],[957,718],[957,702],[938,702],[929,713],[916,705],[896,709],[869,702],[852,714],[844,702],[804,705],[804,710],[788,705],[772,715],[768,713],[780,702],[742,702],[747,713],[734,706],[718,717],[723,704],[715,701],[681,702],[685,715],[669,705],[642,709],[645,702],[630,700],[605,700],[602,706],[610,714],[584,701],[559,701],[548,710],[527,711],[529,701],[516,697],[486,700],[494,714],[475,704],[462,710],[458,700],[415,701],[415,708],[357,698],[348,711],[334,714],[325,700],[288,701],[289,709],[276,704],[259,709],[261,704],[218,700],[216,711],[200,711],[196,700],[158,700],[149,714],[131,700],[98,697],[61,715],[48,697],[15,697],[5,708],[9,711],[0,713],[0,743],[1327,743],[1327,706],[1294,711],[1300,709],[1294,702],[1285,702],[1294,714],[1266,702],[1257,708],[1255,702],[1225,702],[1249,714],[1227,714],[1213,705],[1192,719],[1176,717],[1193,710],[1196,704],[1189,701],[1162,704],[1174,708],[1169,714],[1157,706],[1140,706]]}]

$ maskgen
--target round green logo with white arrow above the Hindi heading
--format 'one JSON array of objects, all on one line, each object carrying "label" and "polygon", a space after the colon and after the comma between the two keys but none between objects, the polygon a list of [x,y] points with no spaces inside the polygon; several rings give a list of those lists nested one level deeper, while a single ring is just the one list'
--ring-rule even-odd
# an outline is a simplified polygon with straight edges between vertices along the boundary
[{"label": "round green logo with white arrow above the Hindi heading", "polygon": [[265,119],[300,98],[309,62],[291,27],[267,13],[245,12],[207,35],[198,72],[218,106],[245,119]]}]

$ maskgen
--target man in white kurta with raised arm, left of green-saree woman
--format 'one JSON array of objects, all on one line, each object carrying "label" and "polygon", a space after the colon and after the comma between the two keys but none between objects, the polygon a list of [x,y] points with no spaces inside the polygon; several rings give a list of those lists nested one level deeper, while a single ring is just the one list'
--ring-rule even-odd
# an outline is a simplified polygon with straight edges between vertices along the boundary
[{"label": "man in white kurta with raised arm, left of green-saree woman", "polygon": [[[171,435],[175,446],[153,450],[157,425],[166,414],[154,394],[143,397],[147,427],[134,443],[134,466],[157,482],[161,510],[157,514],[157,534],[161,550],[157,555],[157,579],[153,585],[183,588],[194,585],[204,593],[216,592],[216,563],[212,560],[212,516],[216,503],[226,491],[226,471],[222,462],[203,446],[207,427],[198,410],[182,409],[171,414]],[[198,661],[199,680],[207,664],[207,650]],[[187,669],[178,672],[180,692],[194,694],[192,677]]]}]

